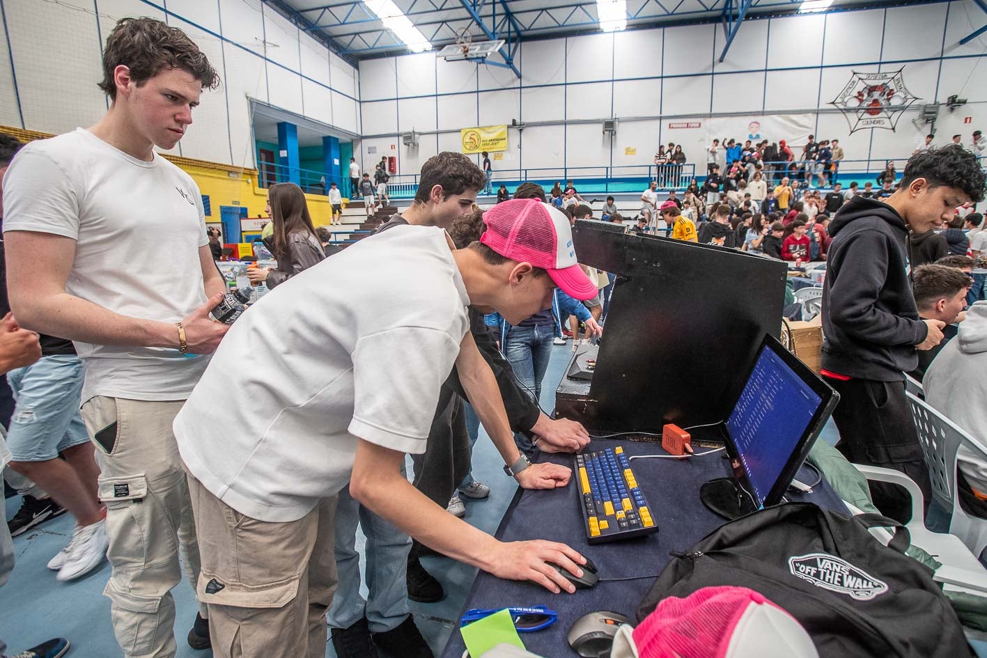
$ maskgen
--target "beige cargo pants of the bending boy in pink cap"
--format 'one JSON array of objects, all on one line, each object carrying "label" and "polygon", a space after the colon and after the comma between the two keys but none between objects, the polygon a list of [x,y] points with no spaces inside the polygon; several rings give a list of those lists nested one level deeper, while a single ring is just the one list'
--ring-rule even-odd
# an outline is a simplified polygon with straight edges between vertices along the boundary
[{"label": "beige cargo pants of the bending boy in pink cap", "polygon": [[325,658],[336,496],[297,521],[245,516],[189,475],[214,658]]}]

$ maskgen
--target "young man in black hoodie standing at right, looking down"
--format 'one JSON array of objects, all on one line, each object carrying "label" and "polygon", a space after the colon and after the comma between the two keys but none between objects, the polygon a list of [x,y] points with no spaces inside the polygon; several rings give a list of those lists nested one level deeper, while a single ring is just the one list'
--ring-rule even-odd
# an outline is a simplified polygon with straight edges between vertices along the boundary
[{"label": "young man in black hoodie standing at right, looking down", "polygon": [[[918,365],[916,349],[943,339],[945,324],[921,320],[912,295],[909,230],[924,233],[953,209],[984,198],[976,158],[959,146],[919,153],[884,201],[852,198],[830,224],[833,236],[822,293],[822,371],[840,394],[833,419],[838,448],[851,462],[901,471],[931,499],[929,473],[905,398],[904,372]],[[894,485],[873,484],[886,516],[910,517]]]}]

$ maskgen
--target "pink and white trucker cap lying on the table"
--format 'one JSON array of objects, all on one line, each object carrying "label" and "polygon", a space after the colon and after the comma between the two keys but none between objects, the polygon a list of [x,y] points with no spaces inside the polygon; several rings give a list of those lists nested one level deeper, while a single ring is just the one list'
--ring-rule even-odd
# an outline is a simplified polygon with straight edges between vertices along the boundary
[{"label": "pink and white trucker cap lying on the table", "polygon": [[633,635],[640,658],[819,656],[794,617],[744,587],[704,587],[685,599],[668,597]]}]

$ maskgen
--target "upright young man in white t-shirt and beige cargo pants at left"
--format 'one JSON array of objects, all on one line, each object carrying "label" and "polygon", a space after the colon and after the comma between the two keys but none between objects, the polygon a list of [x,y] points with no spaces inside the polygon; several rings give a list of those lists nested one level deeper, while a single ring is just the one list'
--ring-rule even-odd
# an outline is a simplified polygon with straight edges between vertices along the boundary
[{"label": "upright young man in white t-shirt and beige cargo pants at left", "polygon": [[[86,368],[82,416],[102,471],[105,593],[123,655],[169,658],[180,550],[190,581],[198,576],[171,423],[227,327],[208,318],[225,284],[198,188],[154,147],[178,144],[218,76],[189,37],[152,19],[116,24],[103,70],[104,117],[28,144],[7,171],[7,283],[18,322],[73,340]],[[167,261],[147,257],[162,245]],[[204,613],[189,636],[196,648],[209,646]]]}]

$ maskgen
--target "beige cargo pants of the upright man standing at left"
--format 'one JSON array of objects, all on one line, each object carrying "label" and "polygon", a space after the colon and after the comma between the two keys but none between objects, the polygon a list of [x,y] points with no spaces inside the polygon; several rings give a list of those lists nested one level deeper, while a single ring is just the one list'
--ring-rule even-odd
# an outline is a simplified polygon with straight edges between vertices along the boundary
[{"label": "beige cargo pants of the upright man standing at left", "polygon": [[171,590],[182,567],[193,587],[198,578],[189,486],[172,433],[184,403],[97,397],[82,405],[107,505],[112,572],[103,593],[125,658],[175,655]]}]

